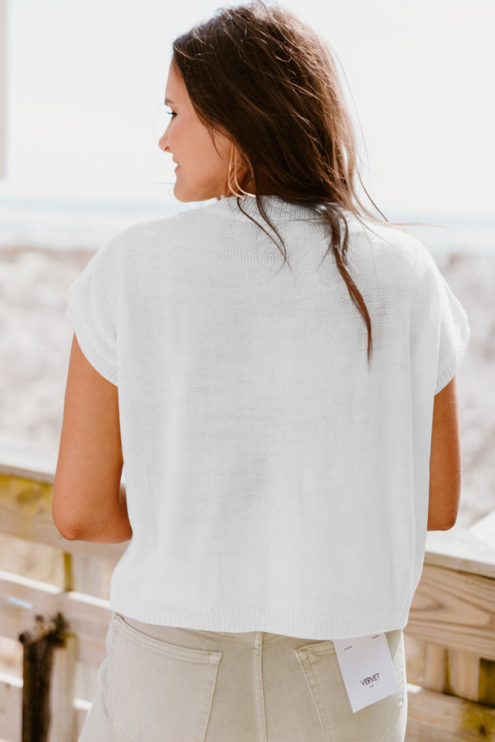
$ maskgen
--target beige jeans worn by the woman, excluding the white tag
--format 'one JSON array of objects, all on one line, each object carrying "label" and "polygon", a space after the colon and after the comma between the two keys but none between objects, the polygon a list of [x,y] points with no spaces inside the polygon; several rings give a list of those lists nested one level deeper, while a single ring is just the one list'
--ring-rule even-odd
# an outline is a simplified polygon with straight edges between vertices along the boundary
[{"label": "beige jeans worn by the woman, excluding the white tag", "polygon": [[114,613],[79,742],[403,742],[404,636],[386,636],[399,692],[353,714],[331,640]]}]

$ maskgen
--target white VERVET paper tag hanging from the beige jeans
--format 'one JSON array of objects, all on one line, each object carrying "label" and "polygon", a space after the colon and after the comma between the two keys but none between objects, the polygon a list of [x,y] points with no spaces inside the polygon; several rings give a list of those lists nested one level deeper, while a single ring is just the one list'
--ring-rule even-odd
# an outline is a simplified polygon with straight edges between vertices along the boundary
[{"label": "white VERVET paper tag hanging from the beige jeans", "polygon": [[385,634],[333,644],[353,713],[399,691]]}]

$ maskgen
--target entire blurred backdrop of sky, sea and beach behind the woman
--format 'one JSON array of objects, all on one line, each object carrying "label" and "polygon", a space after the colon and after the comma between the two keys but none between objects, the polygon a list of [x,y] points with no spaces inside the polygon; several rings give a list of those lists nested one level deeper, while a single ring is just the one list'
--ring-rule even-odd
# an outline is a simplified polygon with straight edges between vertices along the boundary
[{"label": "entire blurred backdrop of sky, sea and beach behind the woman", "polygon": [[[471,525],[495,508],[492,0],[285,4],[337,56],[381,211],[439,225],[411,231],[470,319],[457,378],[458,523]],[[55,466],[68,288],[96,249],[129,224],[198,206],[174,200],[157,142],[171,42],[216,7],[0,0],[0,452]],[[32,550],[0,536],[0,569],[61,584],[59,562]]]}]

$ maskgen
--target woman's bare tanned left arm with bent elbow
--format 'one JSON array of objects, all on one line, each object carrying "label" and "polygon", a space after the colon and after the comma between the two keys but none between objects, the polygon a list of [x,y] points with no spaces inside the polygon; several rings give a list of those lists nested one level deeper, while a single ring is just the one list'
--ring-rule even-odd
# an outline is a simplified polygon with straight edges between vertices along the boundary
[{"label": "woman's bare tanned left arm with bent elbow", "polygon": [[131,539],[122,465],[118,389],[91,366],[74,335],[52,499],[62,536],[98,543]]}]

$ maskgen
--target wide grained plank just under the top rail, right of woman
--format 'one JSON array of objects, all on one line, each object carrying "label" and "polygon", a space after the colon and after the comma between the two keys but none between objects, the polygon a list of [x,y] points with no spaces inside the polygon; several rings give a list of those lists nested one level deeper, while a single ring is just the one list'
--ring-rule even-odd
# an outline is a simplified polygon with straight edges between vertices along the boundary
[{"label": "wide grained plank just under the top rail, right of woman", "polygon": [[495,660],[495,580],[425,564],[404,631]]}]

